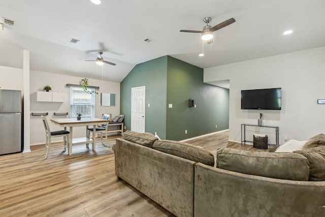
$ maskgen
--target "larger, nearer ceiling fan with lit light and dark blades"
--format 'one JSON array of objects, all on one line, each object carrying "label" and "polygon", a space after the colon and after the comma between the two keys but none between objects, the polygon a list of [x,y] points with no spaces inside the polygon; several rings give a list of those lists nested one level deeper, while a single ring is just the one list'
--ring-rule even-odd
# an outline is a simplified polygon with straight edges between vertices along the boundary
[{"label": "larger, nearer ceiling fan with lit light and dark blades", "polygon": [[212,38],[213,38],[212,34],[213,34],[214,31],[236,22],[236,20],[234,18],[230,18],[228,20],[225,20],[225,21],[211,27],[211,25],[209,25],[209,22],[211,21],[211,17],[205,17],[203,19],[203,21],[206,23],[206,25],[203,27],[202,31],[200,31],[200,30],[183,30],[183,29],[181,29],[180,32],[183,32],[183,33],[201,33],[202,34],[201,39],[204,40],[204,41],[207,41],[207,43],[210,44],[210,43],[212,43]]}]

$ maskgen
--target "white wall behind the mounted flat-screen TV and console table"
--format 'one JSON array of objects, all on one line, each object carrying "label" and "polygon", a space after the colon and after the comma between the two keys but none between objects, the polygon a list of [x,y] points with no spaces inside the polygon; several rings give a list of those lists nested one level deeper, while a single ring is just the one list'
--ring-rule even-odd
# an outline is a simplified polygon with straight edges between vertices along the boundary
[{"label": "white wall behind the mounted flat-screen TV and console table", "polygon": [[[286,53],[204,69],[204,82],[230,79],[229,140],[241,141],[241,123],[279,126],[279,143],[287,139],[308,140],[325,133],[325,47]],[[243,89],[282,88],[281,110],[242,110]],[[252,129],[255,131],[258,129]],[[274,132],[269,142],[274,143]],[[252,138],[251,138],[252,139]]]}]

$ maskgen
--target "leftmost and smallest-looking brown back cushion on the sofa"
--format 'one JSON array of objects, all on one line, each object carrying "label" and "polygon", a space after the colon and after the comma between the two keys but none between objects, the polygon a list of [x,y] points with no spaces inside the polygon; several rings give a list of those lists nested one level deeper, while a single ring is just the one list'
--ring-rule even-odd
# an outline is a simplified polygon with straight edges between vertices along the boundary
[{"label": "leftmost and smallest-looking brown back cushion on the sofa", "polygon": [[138,133],[134,131],[126,131],[125,133],[123,133],[123,139],[150,148],[152,148],[153,143],[157,140],[157,138],[150,133]]}]

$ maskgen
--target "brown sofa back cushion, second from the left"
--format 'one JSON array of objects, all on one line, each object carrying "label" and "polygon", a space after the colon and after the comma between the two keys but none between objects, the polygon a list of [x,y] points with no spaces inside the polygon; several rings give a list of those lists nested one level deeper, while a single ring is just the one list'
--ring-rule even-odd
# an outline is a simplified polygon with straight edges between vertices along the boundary
[{"label": "brown sofa back cushion, second from the left", "polygon": [[196,145],[172,140],[157,140],[153,143],[153,148],[191,161],[214,166],[213,154]]}]

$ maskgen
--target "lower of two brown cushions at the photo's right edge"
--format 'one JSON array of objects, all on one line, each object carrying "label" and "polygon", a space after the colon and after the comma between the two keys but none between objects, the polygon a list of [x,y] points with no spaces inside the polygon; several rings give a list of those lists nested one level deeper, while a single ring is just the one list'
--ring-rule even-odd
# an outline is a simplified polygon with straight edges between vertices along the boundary
[{"label": "lower of two brown cushions at the photo's right edge", "polygon": [[309,180],[325,180],[325,146],[313,147],[307,150],[297,150],[309,161]]}]

